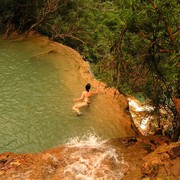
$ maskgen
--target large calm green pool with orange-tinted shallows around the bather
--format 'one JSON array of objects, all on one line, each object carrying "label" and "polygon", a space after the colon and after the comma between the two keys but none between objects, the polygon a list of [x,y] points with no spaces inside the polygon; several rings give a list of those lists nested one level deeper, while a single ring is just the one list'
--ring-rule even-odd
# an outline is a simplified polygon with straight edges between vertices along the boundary
[{"label": "large calm green pool with orange-tinted shallows around the bather", "polygon": [[37,55],[49,49],[36,40],[0,39],[0,152],[39,152],[88,134],[123,136],[114,110],[95,103],[101,95],[82,116],[72,112],[83,81],[70,70],[66,54]]}]

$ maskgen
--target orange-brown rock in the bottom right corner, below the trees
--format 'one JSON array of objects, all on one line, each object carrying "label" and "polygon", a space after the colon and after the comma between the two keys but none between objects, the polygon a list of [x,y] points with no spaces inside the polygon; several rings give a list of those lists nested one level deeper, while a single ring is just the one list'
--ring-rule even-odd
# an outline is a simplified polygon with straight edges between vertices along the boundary
[{"label": "orange-brown rock in the bottom right corner, below the trees", "polygon": [[[177,162],[180,162],[179,143],[160,146],[153,153],[147,155],[144,161],[141,167],[143,177],[176,177],[177,171],[179,171]],[[174,169],[176,169],[176,171],[174,171]],[[180,175],[180,173],[178,173],[178,175]]]}]

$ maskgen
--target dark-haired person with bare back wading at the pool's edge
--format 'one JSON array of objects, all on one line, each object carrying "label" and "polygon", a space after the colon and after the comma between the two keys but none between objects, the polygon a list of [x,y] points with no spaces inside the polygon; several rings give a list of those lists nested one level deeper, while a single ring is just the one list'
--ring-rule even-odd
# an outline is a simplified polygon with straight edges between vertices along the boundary
[{"label": "dark-haired person with bare back wading at the pool's edge", "polygon": [[79,102],[79,103],[75,104],[72,108],[74,111],[77,112],[78,115],[82,114],[79,109],[84,106],[88,106],[90,104],[90,97],[94,94],[98,94],[98,92],[99,92],[98,88],[95,92],[90,91],[90,88],[91,88],[91,85],[89,83],[86,84],[86,86],[85,86],[86,90],[82,92],[81,97],[73,99],[74,102],[83,100],[83,102]]}]

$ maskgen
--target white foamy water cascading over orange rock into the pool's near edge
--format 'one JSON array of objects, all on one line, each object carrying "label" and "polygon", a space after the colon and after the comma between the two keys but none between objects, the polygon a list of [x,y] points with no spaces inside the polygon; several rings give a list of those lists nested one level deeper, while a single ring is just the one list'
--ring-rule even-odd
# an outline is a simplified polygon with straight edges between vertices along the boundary
[{"label": "white foamy water cascading over orange rock into the pool's near edge", "polygon": [[129,168],[119,150],[95,135],[71,139],[66,147],[64,179],[120,180]]}]

